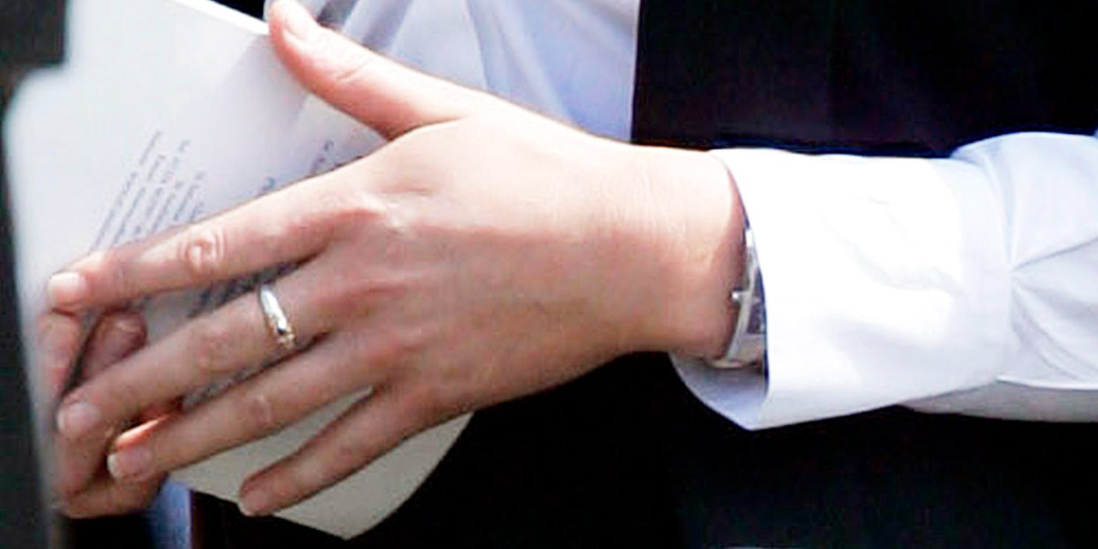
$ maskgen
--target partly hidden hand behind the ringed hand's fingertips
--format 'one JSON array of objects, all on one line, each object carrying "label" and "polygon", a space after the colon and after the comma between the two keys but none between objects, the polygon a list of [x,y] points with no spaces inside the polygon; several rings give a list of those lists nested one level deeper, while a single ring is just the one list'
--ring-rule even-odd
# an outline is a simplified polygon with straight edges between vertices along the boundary
[{"label": "partly hidden hand behind the ringed hand's fingertips", "polygon": [[[46,372],[46,383],[54,399],[68,381],[71,358],[80,345],[80,320],[66,314],[49,313],[40,320],[40,368]],[[83,381],[96,378],[109,366],[126,358],[145,344],[145,324],[133,313],[103,315],[92,329],[83,355]],[[60,511],[72,518],[117,515],[138,511],[148,505],[160,489],[163,474],[137,483],[117,482],[108,473],[107,451],[114,435],[133,421],[153,422],[168,410],[149,408],[134,418],[125,418],[103,429],[99,436],[72,440],[58,438],[54,447],[53,491]]]}]

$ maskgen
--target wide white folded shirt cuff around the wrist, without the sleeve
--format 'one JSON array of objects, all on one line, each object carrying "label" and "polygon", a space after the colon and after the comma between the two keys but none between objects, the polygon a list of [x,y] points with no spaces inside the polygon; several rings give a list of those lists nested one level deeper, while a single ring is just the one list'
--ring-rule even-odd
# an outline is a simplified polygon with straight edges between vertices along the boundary
[{"label": "wide white folded shirt cuff around the wrist, without the sleeve", "polygon": [[[748,428],[852,414],[990,383],[1009,332],[1002,213],[975,167],[714,153],[733,175],[766,287],[768,379],[677,360]],[[722,389],[719,389],[722,388]]]}]

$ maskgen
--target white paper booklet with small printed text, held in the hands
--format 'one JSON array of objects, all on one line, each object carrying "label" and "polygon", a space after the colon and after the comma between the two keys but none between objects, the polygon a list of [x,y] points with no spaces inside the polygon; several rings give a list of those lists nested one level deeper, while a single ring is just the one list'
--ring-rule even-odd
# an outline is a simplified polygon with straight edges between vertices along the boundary
[{"label": "white paper booklet with small printed text, held in the hands", "polygon": [[[67,65],[29,79],[7,128],[24,334],[33,334],[48,277],[88,251],[193,222],[380,143],[310,98],[266,31],[209,0],[71,2]],[[153,337],[244,291],[222,284],[152,301]],[[235,500],[248,473],[296,449],[349,402],[178,479]],[[468,419],[406,441],[280,516],[341,537],[365,531],[415,491]]]}]

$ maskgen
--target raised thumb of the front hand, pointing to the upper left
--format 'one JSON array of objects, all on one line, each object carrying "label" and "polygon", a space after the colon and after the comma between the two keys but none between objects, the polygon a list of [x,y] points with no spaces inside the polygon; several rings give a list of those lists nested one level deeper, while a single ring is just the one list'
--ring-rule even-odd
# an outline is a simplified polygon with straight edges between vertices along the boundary
[{"label": "raised thumb of the front hand, pointing to the upper left", "polygon": [[457,120],[486,96],[390,60],[318,25],[296,0],[277,0],[271,41],[282,64],[321,99],[389,139]]}]

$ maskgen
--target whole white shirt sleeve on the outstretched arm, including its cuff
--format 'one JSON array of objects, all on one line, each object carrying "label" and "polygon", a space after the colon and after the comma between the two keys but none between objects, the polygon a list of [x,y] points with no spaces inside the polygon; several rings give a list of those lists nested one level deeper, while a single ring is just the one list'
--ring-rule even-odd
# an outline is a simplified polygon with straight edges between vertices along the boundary
[{"label": "whole white shirt sleeve on the outstretched arm, including its cuff", "polygon": [[714,154],[754,233],[768,370],[676,358],[706,404],[748,428],[893,404],[1098,419],[1098,139]]}]

